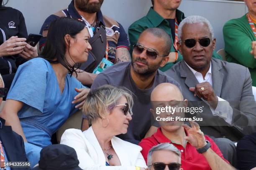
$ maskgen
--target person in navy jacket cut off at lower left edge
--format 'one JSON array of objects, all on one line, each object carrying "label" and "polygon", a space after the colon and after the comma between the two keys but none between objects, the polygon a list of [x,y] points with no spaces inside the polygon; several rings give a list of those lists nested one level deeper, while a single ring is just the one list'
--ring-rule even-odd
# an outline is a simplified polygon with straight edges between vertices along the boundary
[{"label": "person in navy jacket cut off at lower left edge", "polygon": [[[3,78],[0,74],[0,105],[3,97],[7,95]],[[5,120],[0,117],[0,169],[5,170],[28,170],[30,168],[10,168],[4,165],[8,161],[27,161],[24,142],[20,135],[13,132],[11,126],[5,126]]]}]

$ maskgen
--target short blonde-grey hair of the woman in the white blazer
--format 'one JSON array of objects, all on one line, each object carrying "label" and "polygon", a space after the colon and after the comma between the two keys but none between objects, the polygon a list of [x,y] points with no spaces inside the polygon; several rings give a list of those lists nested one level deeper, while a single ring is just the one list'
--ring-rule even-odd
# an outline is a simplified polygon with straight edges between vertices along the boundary
[{"label": "short blonde-grey hair of the woman in the white blazer", "polygon": [[113,87],[112,85],[102,85],[97,89],[91,90],[86,96],[83,105],[83,112],[87,116],[89,124],[91,125],[98,118],[106,115],[108,110],[117,105],[122,96],[127,100],[129,112],[132,115],[133,97],[130,90],[125,87]]}]

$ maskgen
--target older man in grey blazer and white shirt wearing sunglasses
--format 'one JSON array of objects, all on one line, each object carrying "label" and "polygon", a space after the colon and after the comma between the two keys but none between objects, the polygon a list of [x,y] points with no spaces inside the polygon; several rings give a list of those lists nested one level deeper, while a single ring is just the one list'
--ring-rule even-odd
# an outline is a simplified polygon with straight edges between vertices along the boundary
[{"label": "older man in grey blazer and white shirt wearing sunglasses", "polygon": [[218,138],[215,142],[224,157],[230,157],[227,143],[255,131],[256,104],[250,72],[242,65],[212,58],[216,40],[207,19],[190,16],[180,23],[178,33],[184,60],[166,74],[179,82],[190,106],[204,106],[203,113],[197,115],[204,120],[202,131]]}]

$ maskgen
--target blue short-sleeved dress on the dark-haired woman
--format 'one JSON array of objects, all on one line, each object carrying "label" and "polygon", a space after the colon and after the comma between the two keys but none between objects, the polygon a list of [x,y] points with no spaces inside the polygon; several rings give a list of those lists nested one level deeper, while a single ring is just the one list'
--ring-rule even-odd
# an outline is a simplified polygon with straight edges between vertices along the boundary
[{"label": "blue short-sleeved dress on the dark-haired woman", "polygon": [[24,103],[18,112],[28,143],[44,148],[51,145],[51,135],[77,109],[72,104],[78,94],[74,88],[84,86],[67,74],[63,93],[51,64],[37,57],[18,67],[7,99]]}]

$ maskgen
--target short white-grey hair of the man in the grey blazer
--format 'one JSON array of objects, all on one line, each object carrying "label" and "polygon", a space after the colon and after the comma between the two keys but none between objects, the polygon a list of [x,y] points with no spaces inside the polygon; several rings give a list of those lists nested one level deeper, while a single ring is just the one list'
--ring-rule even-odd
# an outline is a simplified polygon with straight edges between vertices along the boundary
[{"label": "short white-grey hair of the man in the grey blazer", "polygon": [[179,27],[178,27],[178,35],[179,35],[179,43],[181,44],[181,37],[182,37],[182,28],[185,24],[196,24],[196,23],[205,23],[207,25],[207,27],[209,28],[209,31],[212,35],[212,37],[210,37],[212,40],[214,38],[214,32],[213,32],[213,28],[212,25],[210,24],[210,22],[204,18],[201,17],[199,15],[192,15],[189,16],[187,18],[185,18],[184,20],[182,20],[181,23],[179,23]]}]

